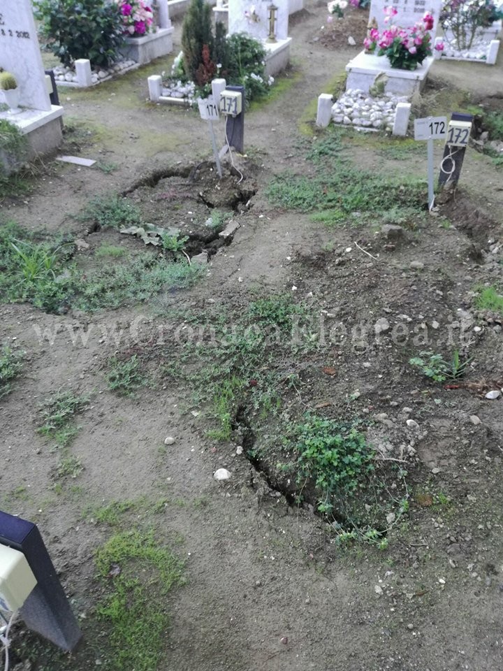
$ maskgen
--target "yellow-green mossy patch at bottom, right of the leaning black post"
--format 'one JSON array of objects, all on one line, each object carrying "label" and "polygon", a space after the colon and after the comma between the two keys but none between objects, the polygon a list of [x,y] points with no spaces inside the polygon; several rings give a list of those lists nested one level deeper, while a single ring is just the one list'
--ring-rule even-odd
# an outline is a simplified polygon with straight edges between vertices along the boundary
[{"label": "yellow-green mossy patch at bottom, right of the leaning black post", "polygon": [[105,596],[96,614],[110,627],[112,671],[152,671],[166,648],[166,598],[183,584],[183,565],[154,533],[118,533],[96,552]]}]

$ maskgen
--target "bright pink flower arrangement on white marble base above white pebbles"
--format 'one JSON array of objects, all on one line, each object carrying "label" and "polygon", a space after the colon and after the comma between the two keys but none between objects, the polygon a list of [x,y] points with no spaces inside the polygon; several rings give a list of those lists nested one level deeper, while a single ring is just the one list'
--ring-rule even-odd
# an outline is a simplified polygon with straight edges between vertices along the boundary
[{"label": "bright pink flower arrangement on white marble base above white pebbles", "polygon": [[[398,14],[394,7],[384,8],[385,23],[390,23]],[[392,68],[401,70],[416,70],[423,60],[432,55],[431,34],[434,19],[426,12],[421,21],[409,28],[401,28],[390,24],[388,28],[379,32],[372,28],[363,41],[367,52],[373,54],[377,51],[378,56],[387,56]],[[435,50],[444,50],[444,44],[435,45]]]}]

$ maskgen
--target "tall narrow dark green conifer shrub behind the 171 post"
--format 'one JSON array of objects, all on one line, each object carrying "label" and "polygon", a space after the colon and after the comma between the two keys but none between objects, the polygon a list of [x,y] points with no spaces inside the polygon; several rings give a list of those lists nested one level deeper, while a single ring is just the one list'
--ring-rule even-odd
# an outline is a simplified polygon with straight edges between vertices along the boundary
[{"label": "tall narrow dark green conifer shrub behind the 171 post", "polygon": [[205,0],[191,0],[182,26],[182,50],[185,73],[190,80],[198,80],[203,62],[203,48],[213,52],[212,8]]}]

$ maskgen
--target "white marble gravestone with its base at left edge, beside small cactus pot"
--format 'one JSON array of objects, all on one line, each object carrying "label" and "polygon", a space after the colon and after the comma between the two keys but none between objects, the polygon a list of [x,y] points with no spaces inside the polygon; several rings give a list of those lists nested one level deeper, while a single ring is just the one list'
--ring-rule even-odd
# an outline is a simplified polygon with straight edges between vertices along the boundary
[{"label": "white marble gravestone with its base at left edge, beside small cactus pot", "polygon": [[19,110],[0,111],[0,118],[27,136],[30,158],[54,150],[62,140],[63,108],[50,101],[31,0],[0,0],[0,67],[14,75],[20,93]]}]

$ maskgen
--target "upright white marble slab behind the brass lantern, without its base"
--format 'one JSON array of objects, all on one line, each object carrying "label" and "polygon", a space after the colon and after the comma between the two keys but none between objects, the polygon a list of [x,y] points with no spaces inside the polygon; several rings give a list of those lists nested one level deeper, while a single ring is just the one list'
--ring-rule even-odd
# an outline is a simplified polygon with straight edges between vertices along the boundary
[{"label": "upright white marble slab behind the brass lantern, without its base", "polygon": [[[1,0],[0,0],[1,1]],[[269,36],[269,10],[271,0],[231,0],[228,3],[228,31],[233,33],[247,33],[256,40],[265,40]],[[276,12],[276,39],[286,40],[288,37],[289,0],[275,0]],[[251,17],[254,10],[258,21]],[[248,15],[248,16],[247,16]]]}]

